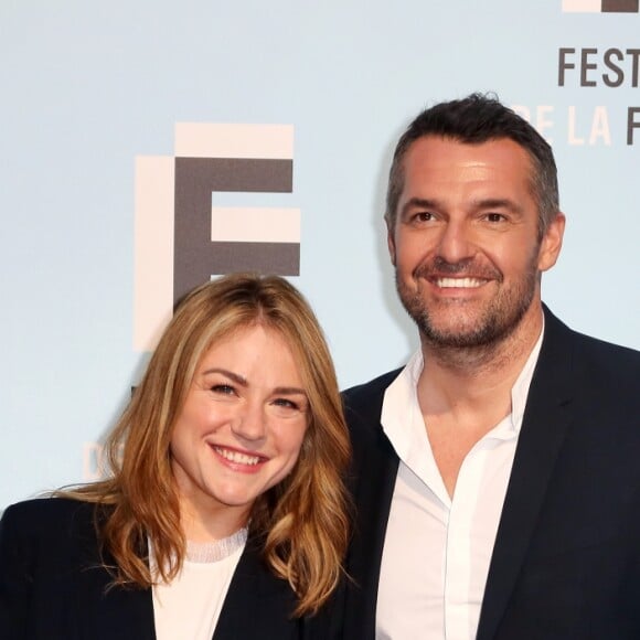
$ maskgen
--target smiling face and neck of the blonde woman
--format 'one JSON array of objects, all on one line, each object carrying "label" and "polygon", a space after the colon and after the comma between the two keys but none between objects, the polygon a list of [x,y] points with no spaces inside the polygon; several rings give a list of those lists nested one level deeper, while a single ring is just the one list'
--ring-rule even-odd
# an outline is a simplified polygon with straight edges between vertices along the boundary
[{"label": "smiling face and neck of the blonde woman", "polygon": [[[309,403],[275,330],[243,328],[201,359],[171,437],[181,514],[246,523],[255,500],[294,468]],[[185,523],[183,522],[183,525]],[[231,532],[230,532],[231,533]]]}]

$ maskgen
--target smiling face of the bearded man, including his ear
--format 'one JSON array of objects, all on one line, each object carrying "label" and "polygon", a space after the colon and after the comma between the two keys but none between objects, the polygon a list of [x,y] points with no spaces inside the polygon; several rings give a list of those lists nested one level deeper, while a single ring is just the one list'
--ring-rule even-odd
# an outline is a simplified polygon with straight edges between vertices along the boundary
[{"label": "smiling face of the bearded man, including his ear", "polygon": [[427,343],[500,342],[538,312],[540,273],[557,258],[564,217],[540,239],[531,160],[509,139],[427,136],[409,147],[403,169],[388,230],[403,305]]}]

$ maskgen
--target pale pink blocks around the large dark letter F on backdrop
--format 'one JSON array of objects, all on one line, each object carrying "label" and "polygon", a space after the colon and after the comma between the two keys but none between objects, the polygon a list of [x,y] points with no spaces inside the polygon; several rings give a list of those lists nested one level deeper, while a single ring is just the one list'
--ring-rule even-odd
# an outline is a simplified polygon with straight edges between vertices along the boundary
[{"label": "pale pink blocks around the large dark letter F on backdrop", "polygon": [[[174,137],[175,157],[136,159],[137,351],[156,348],[173,309],[175,159],[294,158],[291,125],[178,122]],[[300,210],[213,204],[210,238],[217,243],[299,245]]]}]

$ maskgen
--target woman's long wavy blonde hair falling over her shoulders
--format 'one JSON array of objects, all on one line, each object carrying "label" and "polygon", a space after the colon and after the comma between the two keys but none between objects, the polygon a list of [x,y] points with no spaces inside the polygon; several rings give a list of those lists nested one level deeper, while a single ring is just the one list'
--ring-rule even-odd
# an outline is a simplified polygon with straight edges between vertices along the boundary
[{"label": "woman's long wavy blonde hair falling over her shoulders", "polygon": [[[262,324],[278,331],[299,367],[309,424],[287,478],[252,508],[250,537],[273,573],[298,596],[295,616],[314,614],[335,588],[350,518],[343,483],[350,444],[333,363],[311,308],[278,276],[224,276],[178,306],[129,406],[107,439],[106,480],[58,492],[104,505],[96,514],[114,585],[149,588],[179,573],[185,555],[170,440],[198,364],[233,332]],[[149,568],[150,541],[158,575]],[[103,555],[105,557],[105,555]]]}]

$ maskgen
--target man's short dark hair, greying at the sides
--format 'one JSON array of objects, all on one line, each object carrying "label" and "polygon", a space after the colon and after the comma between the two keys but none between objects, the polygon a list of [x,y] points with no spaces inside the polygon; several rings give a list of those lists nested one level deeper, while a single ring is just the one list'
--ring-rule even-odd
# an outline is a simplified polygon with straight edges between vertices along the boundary
[{"label": "man's short dark hair, greying at the sides", "polygon": [[546,140],[521,116],[492,95],[471,94],[459,100],[439,103],[415,118],[401,136],[388,175],[384,217],[393,228],[404,188],[403,161],[408,148],[425,136],[450,138],[478,145],[506,138],[520,145],[531,158],[531,190],[537,203],[542,237],[559,210],[557,169]]}]

